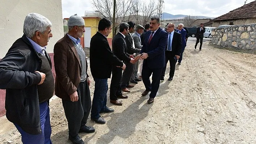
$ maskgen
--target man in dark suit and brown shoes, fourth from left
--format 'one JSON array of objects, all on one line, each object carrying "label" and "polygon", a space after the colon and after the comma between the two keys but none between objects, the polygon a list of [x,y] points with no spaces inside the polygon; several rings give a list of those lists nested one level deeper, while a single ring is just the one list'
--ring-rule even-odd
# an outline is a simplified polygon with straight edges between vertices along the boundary
[{"label": "man in dark suit and brown shoes, fourth from left", "polygon": [[[118,57],[121,61],[125,63],[135,63],[133,55],[127,53],[125,36],[128,35],[129,24],[122,22],[119,25],[119,32],[114,36],[112,40],[112,52]],[[112,67],[112,79],[110,84],[110,102],[115,105],[123,105],[122,101],[117,98],[127,99],[128,96],[123,96],[121,91],[120,81],[122,78],[122,69],[121,67]]]}]

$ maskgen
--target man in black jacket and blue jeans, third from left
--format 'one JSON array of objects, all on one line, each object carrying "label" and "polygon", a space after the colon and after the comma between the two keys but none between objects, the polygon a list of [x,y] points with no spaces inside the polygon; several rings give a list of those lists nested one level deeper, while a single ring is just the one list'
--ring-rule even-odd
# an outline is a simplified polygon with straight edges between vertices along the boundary
[{"label": "man in black jacket and blue jeans, third from left", "polygon": [[[90,42],[90,68],[91,75],[95,81],[91,119],[101,124],[106,123],[106,121],[99,113],[114,112],[114,109],[106,106],[108,90],[107,79],[111,76],[112,66],[125,69],[125,64],[112,53],[108,44],[107,36],[110,34],[111,30],[111,21],[102,18],[99,21],[98,32],[91,38]],[[120,97],[122,96],[120,95]]]}]

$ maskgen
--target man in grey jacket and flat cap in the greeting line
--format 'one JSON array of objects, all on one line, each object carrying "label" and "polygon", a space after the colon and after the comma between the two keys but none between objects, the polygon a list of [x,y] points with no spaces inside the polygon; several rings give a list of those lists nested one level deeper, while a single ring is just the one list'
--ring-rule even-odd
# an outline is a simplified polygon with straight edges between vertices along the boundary
[{"label": "man in grey jacket and flat cap in the greeting line", "polygon": [[[132,38],[134,41],[135,48],[141,49],[142,45],[141,45],[140,35],[142,34],[142,32],[145,28],[142,25],[137,25],[135,28],[136,28],[136,31],[132,34]],[[137,52],[135,54],[135,56],[137,56],[139,53],[140,52]],[[132,71],[132,76],[131,76],[130,82],[141,81],[141,79],[138,78],[138,64],[139,64],[139,61],[137,61],[133,65],[133,71]]]}]

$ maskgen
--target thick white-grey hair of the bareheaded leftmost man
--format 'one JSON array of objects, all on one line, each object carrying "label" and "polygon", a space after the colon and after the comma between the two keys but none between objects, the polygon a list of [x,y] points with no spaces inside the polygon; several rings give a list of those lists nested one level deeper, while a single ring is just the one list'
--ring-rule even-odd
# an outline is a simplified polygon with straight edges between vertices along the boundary
[{"label": "thick white-grey hair of the bareheaded leftmost man", "polygon": [[44,33],[48,27],[52,27],[52,23],[46,17],[37,13],[30,13],[26,16],[23,33],[28,38],[32,38],[36,31]]}]

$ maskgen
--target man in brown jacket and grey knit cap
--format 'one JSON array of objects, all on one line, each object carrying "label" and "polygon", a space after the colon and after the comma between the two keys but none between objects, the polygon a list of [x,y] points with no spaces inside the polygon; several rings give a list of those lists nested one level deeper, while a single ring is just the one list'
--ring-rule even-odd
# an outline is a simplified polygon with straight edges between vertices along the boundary
[{"label": "man in brown jacket and grey knit cap", "polygon": [[78,132],[95,131],[94,127],[85,125],[91,109],[91,97],[88,65],[79,39],[85,32],[84,25],[82,17],[76,14],[71,16],[68,33],[54,46],[55,95],[62,99],[69,140],[73,144],[84,144]]}]

